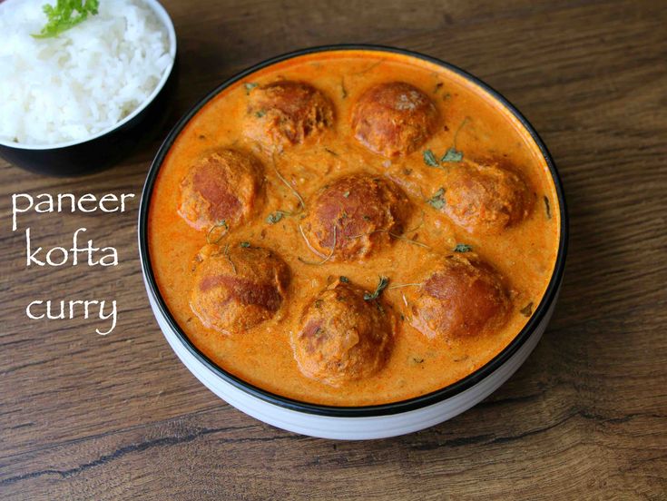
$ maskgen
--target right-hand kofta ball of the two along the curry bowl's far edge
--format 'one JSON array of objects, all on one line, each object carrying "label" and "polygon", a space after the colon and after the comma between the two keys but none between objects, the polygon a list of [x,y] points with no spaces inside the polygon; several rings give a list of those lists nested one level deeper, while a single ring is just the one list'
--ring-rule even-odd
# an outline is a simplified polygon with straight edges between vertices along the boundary
[{"label": "right-hand kofta ball of the two along the curry bowl's far edge", "polygon": [[352,109],[352,132],[372,152],[396,157],[414,152],[436,131],[436,105],[405,82],[380,83]]}]

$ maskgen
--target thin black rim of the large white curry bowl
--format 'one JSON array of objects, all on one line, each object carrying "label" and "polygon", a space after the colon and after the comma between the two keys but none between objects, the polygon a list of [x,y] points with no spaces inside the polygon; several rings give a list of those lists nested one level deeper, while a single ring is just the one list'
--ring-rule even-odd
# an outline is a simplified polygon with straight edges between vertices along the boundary
[{"label": "thin black rim of the large white curry bowl", "polygon": [[[148,211],[151,202],[152,188],[155,183],[158,172],[162,166],[165,156],[172,147],[172,144],[176,137],[181,133],[182,129],[187,123],[190,122],[191,118],[198,113],[201,108],[211,101],[213,97],[221,93],[222,90],[229,87],[232,83],[236,83],[243,78],[247,77],[249,74],[252,74],[262,68],[270,66],[271,64],[280,63],[287,59],[294,57],[299,57],[306,54],[315,54],[320,52],[338,52],[338,51],[378,51],[383,53],[395,53],[403,54],[417,59],[427,61],[429,63],[437,64],[442,67],[445,67],[447,70],[451,70],[460,76],[463,76],[468,81],[478,85],[483,91],[489,93],[497,102],[503,104],[507,110],[509,110],[517,120],[525,127],[528,133],[531,134],[533,140],[539,147],[540,151],[544,156],[544,160],[547,163],[549,171],[551,172],[552,178],[554,180],[555,190],[558,196],[558,203],[560,206],[560,217],[561,217],[561,231],[560,231],[560,241],[558,246],[558,256],[556,258],[554,272],[552,274],[549,285],[544,292],[544,296],[540,301],[540,304],[535,309],[533,316],[525,324],[524,329],[515,336],[506,347],[500,353],[498,353],[493,359],[489,360],[483,367],[478,368],[472,374],[466,376],[466,378],[459,379],[455,383],[446,386],[445,388],[440,388],[436,391],[422,395],[416,398],[408,398],[406,400],[400,400],[397,402],[391,402],[381,405],[372,405],[372,406],[359,406],[359,407],[338,407],[338,406],[328,406],[328,405],[319,405],[312,404],[309,402],[300,401],[293,398],[282,397],[278,394],[272,393],[265,389],[259,388],[257,386],[251,385],[250,383],[244,381],[241,378],[238,378],[231,374],[230,372],[224,370],[223,368],[216,365],[211,359],[204,355],[200,349],[198,349],[191,340],[183,333],[179,327],[176,320],[173,318],[172,313],[167,308],[166,303],[162,298],[162,294],[157,287],[155,277],[153,275],[151,259],[149,254],[148,247]],[[535,132],[533,126],[528,123],[524,115],[519,113],[514,105],[509,103],[505,97],[495,91],[495,89],[488,86],[486,83],[480,81],[476,76],[468,74],[466,71],[458,68],[453,64],[446,63],[435,57],[431,57],[425,54],[419,54],[407,49],[400,49],[397,47],[390,47],[385,45],[374,45],[374,44],[334,44],[334,45],[320,45],[317,47],[310,47],[307,49],[301,49],[298,51],[290,52],[287,54],[278,55],[267,59],[266,61],[261,62],[260,64],[255,64],[250,66],[250,68],[232,76],[230,79],[226,80],[224,83],[218,85],[215,89],[208,93],[199,103],[196,103],[188,113],[181,118],[181,120],[174,125],[172,131],[167,135],[160,150],[157,152],[155,159],[152,162],[151,169],[148,172],[146,182],[143,186],[142,191],[142,201],[140,206],[139,213],[139,252],[142,261],[142,268],[144,276],[149,287],[149,293],[152,294],[152,298],[156,301],[160,312],[164,319],[166,319],[169,327],[176,334],[176,336],[181,340],[182,345],[188,349],[191,354],[198,359],[206,367],[210,368],[218,377],[220,377],[225,382],[231,384],[235,388],[246,392],[252,397],[260,398],[265,402],[279,406],[281,408],[289,408],[291,410],[296,410],[299,412],[305,412],[308,414],[314,414],[319,416],[327,417],[378,417],[378,416],[387,416],[391,414],[398,414],[407,412],[410,410],[416,410],[418,408],[425,408],[431,406],[438,402],[445,400],[446,398],[454,397],[455,395],[465,391],[467,388],[471,388],[480,382],[484,378],[491,375],[497,368],[500,368],[508,359],[510,359],[518,349],[520,349],[525,341],[530,338],[530,336],[535,331],[537,325],[544,319],[549,307],[553,304],[556,299],[556,294],[558,288],[563,280],[564,274],[564,264],[565,256],[567,253],[567,237],[568,237],[568,219],[567,211],[565,207],[565,197],[563,191],[563,184],[561,182],[560,176],[556,171],[554,161],[551,157],[551,154],[546,149],[544,142],[540,139],[539,135]]]}]

